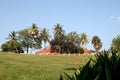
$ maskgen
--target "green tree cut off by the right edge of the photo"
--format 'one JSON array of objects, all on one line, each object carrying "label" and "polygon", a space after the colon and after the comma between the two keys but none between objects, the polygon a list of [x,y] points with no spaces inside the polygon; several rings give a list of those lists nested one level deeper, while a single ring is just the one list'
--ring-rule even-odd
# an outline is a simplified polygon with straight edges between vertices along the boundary
[{"label": "green tree cut off by the right edge of the photo", "polygon": [[120,52],[120,35],[116,36],[116,37],[112,40],[111,50],[112,50],[113,52]]}]

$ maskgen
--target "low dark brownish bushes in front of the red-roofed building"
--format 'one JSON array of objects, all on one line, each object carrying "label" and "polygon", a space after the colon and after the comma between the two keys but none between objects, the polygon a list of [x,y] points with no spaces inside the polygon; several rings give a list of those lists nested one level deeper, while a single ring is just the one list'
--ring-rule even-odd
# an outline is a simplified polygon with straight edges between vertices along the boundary
[{"label": "low dark brownish bushes in front of the red-roofed building", "polygon": [[52,45],[52,51],[57,50],[60,53],[66,53],[66,54],[84,53],[84,50],[82,48],[76,46],[72,42],[65,42],[65,41],[58,42],[57,40],[56,41],[52,40],[50,44]]}]

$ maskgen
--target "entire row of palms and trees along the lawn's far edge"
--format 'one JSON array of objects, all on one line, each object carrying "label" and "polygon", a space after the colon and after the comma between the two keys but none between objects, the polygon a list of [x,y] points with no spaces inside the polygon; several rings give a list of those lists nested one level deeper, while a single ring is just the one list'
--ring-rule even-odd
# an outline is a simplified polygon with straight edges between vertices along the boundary
[{"label": "entire row of palms and trees along the lawn's far edge", "polygon": [[[44,42],[44,48],[48,42],[52,51],[57,50],[59,53],[84,53],[80,46],[84,46],[89,43],[86,33],[77,33],[75,31],[65,33],[63,26],[57,23],[53,28],[53,39],[50,37],[49,30],[47,28],[39,29],[39,27],[33,23],[30,27],[19,31],[12,31],[6,39],[8,41],[1,45],[3,52],[15,52],[15,53],[31,53],[34,49],[42,48],[42,42]],[[117,43],[120,44],[120,37],[118,36]],[[91,43],[98,52],[102,47],[101,39],[98,36],[93,36]],[[120,51],[119,44],[116,44],[116,38],[113,39],[111,50]],[[116,47],[117,46],[117,47]],[[31,50],[31,51],[29,51]]]}]

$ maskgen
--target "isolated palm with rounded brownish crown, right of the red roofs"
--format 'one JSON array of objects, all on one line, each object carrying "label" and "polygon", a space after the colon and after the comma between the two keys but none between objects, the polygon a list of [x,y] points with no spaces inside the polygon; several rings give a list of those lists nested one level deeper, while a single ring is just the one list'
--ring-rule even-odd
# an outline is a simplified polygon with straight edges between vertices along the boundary
[{"label": "isolated palm with rounded brownish crown, right of the red roofs", "polygon": [[102,42],[98,36],[94,36],[92,38],[92,44],[93,44],[93,47],[95,48],[96,52],[98,52],[99,49],[102,48]]}]

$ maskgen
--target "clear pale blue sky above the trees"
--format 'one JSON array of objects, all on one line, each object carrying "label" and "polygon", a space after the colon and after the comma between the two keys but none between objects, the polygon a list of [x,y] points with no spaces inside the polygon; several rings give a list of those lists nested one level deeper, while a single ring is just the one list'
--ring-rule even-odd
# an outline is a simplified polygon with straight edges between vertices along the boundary
[{"label": "clear pale blue sky above the trees", "polygon": [[113,38],[120,34],[120,0],[0,0],[0,45],[11,31],[28,28],[35,23],[50,33],[54,25],[63,25],[66,33],[85,32],[88,49],[92,37],[100,37],[109,49]]}]

